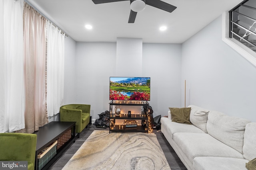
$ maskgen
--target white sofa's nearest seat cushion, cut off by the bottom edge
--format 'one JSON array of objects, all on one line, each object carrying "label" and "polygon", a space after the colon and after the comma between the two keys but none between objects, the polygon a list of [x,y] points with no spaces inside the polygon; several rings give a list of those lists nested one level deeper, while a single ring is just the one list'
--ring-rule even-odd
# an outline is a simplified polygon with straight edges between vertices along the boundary
[{"label": "white sofa's nearest seat cushion, cut off by the bottom edge", "polygon": [[195,170],[246,170],[246,159],[223,157],[196,157],[193,168]]}]

